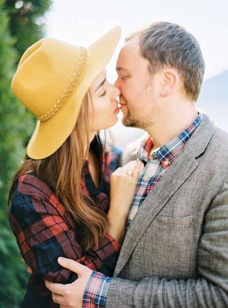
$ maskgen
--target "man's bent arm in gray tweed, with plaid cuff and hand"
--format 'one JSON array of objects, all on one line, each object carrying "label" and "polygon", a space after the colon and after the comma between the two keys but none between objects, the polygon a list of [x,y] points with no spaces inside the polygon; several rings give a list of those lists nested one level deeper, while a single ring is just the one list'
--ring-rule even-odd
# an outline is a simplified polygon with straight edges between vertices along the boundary
[{"label": "man's bent arm in gray tweed, with plaid cuff and hand", "polygon": [[[47,285],[54,294],[61,294],[61,304],[75,302],[84,295],[83,307],[89,302],[87,307],[225,308],[228,306],[228,183],[223,185],[205,216],[198,251],[199,279],[149,277],[130,281],[87,273],[85,266],[72,260],[65,259],[60,264],[80,274],[71,284]],[[87,283],[81,287],[84,277]]]}]

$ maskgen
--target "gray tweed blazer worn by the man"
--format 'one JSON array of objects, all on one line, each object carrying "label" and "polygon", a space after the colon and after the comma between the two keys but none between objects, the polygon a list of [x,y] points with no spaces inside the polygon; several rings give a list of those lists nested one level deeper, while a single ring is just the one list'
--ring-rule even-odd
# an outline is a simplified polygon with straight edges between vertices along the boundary
[{"label": "gray tweed blazer worn by the man", "polygon": [[228,134],[206,115],[140,206],[113,277],[106,308],[228,307]]}]

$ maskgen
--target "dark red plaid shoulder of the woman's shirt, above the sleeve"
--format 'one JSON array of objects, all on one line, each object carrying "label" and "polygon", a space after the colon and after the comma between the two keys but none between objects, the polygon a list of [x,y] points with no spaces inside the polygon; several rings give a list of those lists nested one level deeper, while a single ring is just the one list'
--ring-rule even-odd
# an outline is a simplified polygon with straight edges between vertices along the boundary
[{"label": "dark red plaid shoulder of the woman's shirt, above the sleeve", "polygon": [[17,179],[12,198],[27,195],[49,200],[52,194],[49,185],[37,177],[33,172],[30,172],[21,175]]}]

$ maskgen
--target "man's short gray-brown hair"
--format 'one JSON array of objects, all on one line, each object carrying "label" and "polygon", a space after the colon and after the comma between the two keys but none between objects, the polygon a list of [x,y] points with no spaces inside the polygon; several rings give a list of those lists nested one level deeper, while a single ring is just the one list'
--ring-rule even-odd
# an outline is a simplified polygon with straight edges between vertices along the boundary
[{"label": "man's short gray-brown hair", "polygon": [[149,62],[149,72],[157,73],[164,65],[176,68],[186,96],[196,101],[203,81],[205,63],[196,38],[185,28],[168,22],[151,24],[130,34],[139,37],[142,56]]}]

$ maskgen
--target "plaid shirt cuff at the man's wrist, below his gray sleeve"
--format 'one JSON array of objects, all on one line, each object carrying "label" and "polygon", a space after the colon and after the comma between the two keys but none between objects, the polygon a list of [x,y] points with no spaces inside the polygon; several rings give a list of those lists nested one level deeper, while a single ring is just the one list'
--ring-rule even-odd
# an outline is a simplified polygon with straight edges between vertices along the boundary
[{"label": "plaid shirt cuff at the man's wrist, below his gray sleeve", "polygon": [[82,307],[104,308],[111,279],[99,272],[93,271],[86,285]]}]

